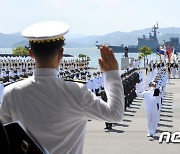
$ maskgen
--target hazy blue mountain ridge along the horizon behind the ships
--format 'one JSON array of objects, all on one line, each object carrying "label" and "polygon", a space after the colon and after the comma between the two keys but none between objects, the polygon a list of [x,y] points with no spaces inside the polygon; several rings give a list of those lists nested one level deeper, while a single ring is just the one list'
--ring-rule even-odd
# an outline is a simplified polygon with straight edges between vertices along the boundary
[{"label": "hazy blue mountain ridge along the horizon behind the ships", "polygon": [[[142,30],[134,30],[132,32],[120,32],[115,31],[105,35],[92,35],[85,36],[81,34],[76,35],[66,35],[66,48],[84,48],[84,47],[94,47],[96,41],[98,43],[106,43],[109,45],[136,45],[137,38],[145,35],[149,37],[151,28],[146,28]],[[158,36],[158,41],[162,44],[163,40],[168,41],[170,37],[180,38],[180,28],[169,27],[160,28],[158,30],[160,35]],[[14,48],[16,46],[28,45],[27,39],[21,36],[20,33],[13,34],[3,34],[0,33],[0,48]]]}]

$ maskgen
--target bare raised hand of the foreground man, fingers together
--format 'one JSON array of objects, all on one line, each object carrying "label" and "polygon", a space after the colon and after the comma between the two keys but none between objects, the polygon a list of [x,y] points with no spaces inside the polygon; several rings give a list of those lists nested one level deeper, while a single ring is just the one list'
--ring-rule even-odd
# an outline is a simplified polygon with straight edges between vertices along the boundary
[{"label": "bare raised hand of the foreground man, fingers together", "polygon": [[107,45],[100,47],[101,58],[98,58],[100,69],[103,73],[110,70],[119,70],[118,62],[111,48]]}]

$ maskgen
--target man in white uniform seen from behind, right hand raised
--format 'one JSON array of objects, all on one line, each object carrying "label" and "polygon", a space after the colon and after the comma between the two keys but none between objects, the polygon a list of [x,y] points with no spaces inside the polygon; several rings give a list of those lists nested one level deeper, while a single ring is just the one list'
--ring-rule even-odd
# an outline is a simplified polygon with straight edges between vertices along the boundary
[{"label": "man in white uniform seen from behind, right hand raised", "polygon": [[58,78],[63,56],[63,22],[43,22],[22,32],[30,42],[36,69],[32,77],[7,86],[0,105],[3,123],[20,120],[51,154],[81,154],[88,119],[119,122],[124,114],[124,92],[113,51],[100,48],[108,102],[86,85]]}]

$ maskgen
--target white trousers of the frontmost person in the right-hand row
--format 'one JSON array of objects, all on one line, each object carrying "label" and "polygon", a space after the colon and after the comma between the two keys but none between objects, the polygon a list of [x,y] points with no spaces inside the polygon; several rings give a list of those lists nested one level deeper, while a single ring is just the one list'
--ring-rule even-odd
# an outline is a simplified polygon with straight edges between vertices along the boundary
[{"label": "white trousers of the frontmost person in the right-hand row", "polygon": [[155,135],[157,129],[158,112],[157,110],[146,110],[148,122],[148,134]]}]

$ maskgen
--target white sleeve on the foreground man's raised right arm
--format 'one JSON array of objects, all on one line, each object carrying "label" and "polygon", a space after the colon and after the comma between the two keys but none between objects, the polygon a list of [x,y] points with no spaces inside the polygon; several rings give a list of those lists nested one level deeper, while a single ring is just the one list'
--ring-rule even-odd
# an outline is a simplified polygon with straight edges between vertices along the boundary
[{"label": "white sleeve on the foreground man's raised right arm", "polygon": [[82,88],[83,109],[88,118],[119,122],[124,115],[124,91],[119,71],[105,73],[107,103],[96,97],[86,86]]}]

